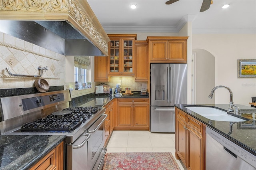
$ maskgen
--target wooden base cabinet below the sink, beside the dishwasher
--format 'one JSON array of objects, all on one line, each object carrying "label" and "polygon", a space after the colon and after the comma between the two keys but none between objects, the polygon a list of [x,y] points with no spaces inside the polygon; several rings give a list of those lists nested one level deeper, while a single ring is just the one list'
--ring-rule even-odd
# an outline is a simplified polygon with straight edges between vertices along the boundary
[{"label": "wooden base cabinet below the sink, beside the dishwasher", "polygon": [[175,156],[188,170],[205,170],[206,126],[175,108]]}]

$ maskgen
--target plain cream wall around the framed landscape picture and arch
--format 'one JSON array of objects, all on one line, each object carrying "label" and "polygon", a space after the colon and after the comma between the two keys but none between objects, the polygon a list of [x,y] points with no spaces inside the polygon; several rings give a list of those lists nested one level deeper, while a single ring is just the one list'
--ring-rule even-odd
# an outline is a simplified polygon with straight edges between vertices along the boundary
[{"label": "plain cream wall around the framed landscape picture and arch", "polygon": [[[250,106],[256,96],[255,78],[237,78],[238,59],[256,59],[255,34],[193,34],[192,49],[205,49],[215,57],[215,86],[226,85],[233,91],[234,104]],[[216,104],[228,104],[226,89],[215,91]]]}]

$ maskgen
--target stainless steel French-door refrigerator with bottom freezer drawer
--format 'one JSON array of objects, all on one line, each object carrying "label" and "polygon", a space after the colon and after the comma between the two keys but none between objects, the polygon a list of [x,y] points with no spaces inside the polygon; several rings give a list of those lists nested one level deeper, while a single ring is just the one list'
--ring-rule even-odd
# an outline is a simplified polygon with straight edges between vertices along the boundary
[{"label": "stainless steel French-door refrigerator with bottom freezer drawer", "polygon": [[187,64],[150,67],[150,131],[175,132],[174,104],[187,103]]}]

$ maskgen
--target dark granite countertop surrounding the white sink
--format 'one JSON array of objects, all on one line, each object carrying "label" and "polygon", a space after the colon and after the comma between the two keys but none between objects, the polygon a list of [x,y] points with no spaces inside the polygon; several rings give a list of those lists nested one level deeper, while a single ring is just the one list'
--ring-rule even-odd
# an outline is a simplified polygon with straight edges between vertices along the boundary
[{"label": "dark granite countertop surrounding the white sink", "polygon": [[[248,152],[254,154],[256,156],[256,120],[253,118],[253,115],[255,117],[256,114],[256,108],[254,107],[248,107],[244,105],[236,105],[241,110],[241,115],[234,115],[241,119],[245,119],[247,121],[244,122],[236,122],[234,123],[232,134],[228,135],[230,132],[230,122],[226,121],[213,121],[210,119],[207,119],[196,112],[190,111],[184,106],[191,106],[191,105],[174,105],[181,109],[182,111],[188,113],[189,115],[192,115],[194,118],[198,119],[208,127],[212,128],[216,132],[222,134],[232,142],[238,144],[242,148],[246,149]],[[224,111],[228,110],[229,105],[192,105],[192,106],[210,106],[210,107],[217,107]]]}]

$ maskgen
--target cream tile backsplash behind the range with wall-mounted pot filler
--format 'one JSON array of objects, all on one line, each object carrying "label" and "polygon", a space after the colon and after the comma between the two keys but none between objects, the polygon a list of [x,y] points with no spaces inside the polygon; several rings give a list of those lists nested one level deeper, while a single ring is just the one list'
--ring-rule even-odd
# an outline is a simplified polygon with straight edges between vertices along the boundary
[{"label": "cream tile backsplash behind the range with wall-mounted pot filler", "polygon": [[6,67],[13,74],[40,75],[39,66],[48,66],[40,78],[46,79],[50,86],[64,85],[64,55],[0,32],[0,89],[34,87],[36,80],[10,76]]}]

